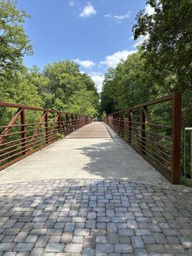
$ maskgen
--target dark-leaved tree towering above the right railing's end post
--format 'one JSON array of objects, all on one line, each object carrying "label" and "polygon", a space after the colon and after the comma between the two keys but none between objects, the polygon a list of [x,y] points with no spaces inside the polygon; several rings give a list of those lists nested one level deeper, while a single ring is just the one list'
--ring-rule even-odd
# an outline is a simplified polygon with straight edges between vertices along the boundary
[{"label": "dark-leaved tree towering above the right railing's end post", "polygon": [[146,70],[154,79],[153,95],[182,92],[183,125],[192,123],[191,0],[148,0],[154,8],[141,10],[133,26],[134,39],[144,36],[141,49]]}]

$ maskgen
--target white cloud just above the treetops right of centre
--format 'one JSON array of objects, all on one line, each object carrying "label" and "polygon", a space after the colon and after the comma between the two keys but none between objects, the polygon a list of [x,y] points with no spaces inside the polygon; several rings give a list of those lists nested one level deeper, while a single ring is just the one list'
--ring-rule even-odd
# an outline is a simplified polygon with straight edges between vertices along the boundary
[{"label": "white cloud just above the treetops right of centre", "polygon": [[126,60],[127,56],[131,55],[136,51],[118,51],[114,52],[112,55],[106,57],[104,61],[100,61],[100,65],[107,65],[108,67],[115,68],[120,60]]}]

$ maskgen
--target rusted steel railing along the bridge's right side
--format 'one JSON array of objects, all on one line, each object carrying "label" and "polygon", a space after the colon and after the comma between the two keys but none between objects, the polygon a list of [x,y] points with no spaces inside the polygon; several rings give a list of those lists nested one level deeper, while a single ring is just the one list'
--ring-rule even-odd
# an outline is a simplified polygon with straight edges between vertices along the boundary
[{"label": "rusted steel railing along the bridge's right side", "polygon": [[170,182],[180,183],[180,93],[112,113],[105,122]]}]

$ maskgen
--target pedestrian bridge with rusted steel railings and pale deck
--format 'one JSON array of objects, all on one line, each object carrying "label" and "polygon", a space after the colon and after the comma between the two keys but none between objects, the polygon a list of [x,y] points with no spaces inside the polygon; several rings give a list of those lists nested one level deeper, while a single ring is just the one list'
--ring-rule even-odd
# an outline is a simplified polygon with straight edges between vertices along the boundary
[{"label": "pedestrian bridge with rusted steel railings and pale deck", "polygon": [[120,178],[156,184],[168,179],[172,184],[180,183],[180,93],[112,113],[104,124],[92,124],[89,116],[52,109],[4,102],[0,102],[0,108],[2,181],[45,179],[50,175],[49,179]]}]

